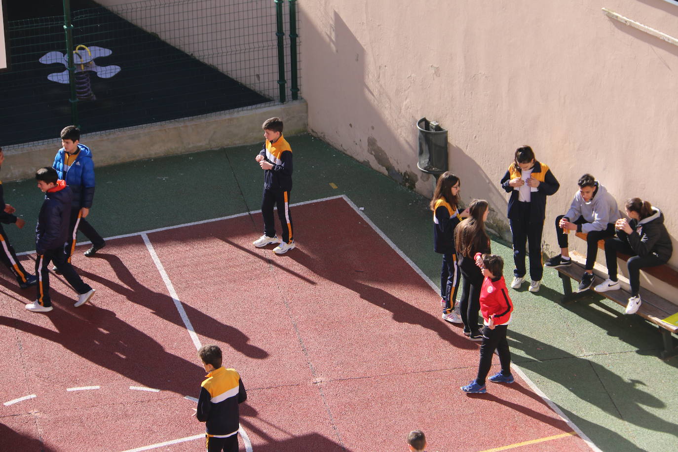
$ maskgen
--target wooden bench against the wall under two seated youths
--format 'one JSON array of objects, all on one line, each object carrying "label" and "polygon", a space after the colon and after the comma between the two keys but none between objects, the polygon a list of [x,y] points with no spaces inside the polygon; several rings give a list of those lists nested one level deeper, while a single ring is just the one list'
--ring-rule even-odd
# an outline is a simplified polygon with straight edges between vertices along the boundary
[{"label": "wooden bench against the wall under two seated youths", "polygon": [[[586,234],[584,232],[576,232],[575,235],[586,241]],[[599,241],[598,247],[604,250],[605,241]],[[631,258],[631,256],[617,253],[617,258],[626,262],[629,260],[629,258]],[[582,274],[584,273],[584,266],[582,264],[574,262],[573,260],[572,264],[569,266],[558,267],[556,270],[558,270],[558,276],[560,276],[560,279],[563,281],[563,297],[561,298],[561,303],[574,300],[580,294],[583,295],[587,292],[584,291],[580,293],[573,293],[572,291],[572,279],[575,281],[582,280]],[[650,274],[655,278],[660,279],[664,283],[667,283],[678,289],[678,272],[666,264],[656,267],[643,268],[641,271]],[[589,290],[593,290],[593,286]],[[629,302],[631,293],[625,290],[610,290],[599,293],[599,295],[603,295],[603,297],[607,297],[613,302],[616,302],[622,306],[626,306],[626,304]],[[678,347],[673,345],[672,336],[672,334],[678,334],[678,326],[672,325],[671,323],[667,323],[662,320],[666,319],[666,317],[676,314],[678,312],[678,305],[666,300],[664,297],[656,295],[656,293],[653,293],[647,289],[643,289],[643,287],[640,288],[640,297],[643,302],[636,314],[659,327],[659,331],[662,333],[662,342],[664,343],[664,350],[661,352],[662,358],[669,358],[670,356],[678,354]]]}]

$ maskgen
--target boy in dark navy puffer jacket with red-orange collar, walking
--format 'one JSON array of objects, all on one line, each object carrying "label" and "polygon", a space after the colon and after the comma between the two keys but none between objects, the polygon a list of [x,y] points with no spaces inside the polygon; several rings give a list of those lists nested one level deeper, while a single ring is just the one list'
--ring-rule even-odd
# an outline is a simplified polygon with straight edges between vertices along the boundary
[{"label": "boy in dark navy puffer jacket with red-orange collar, walking", "polygon": [[37,276],[37,300],[26,305],[33,312],[49,312],[52,300],[49,299],[49,262],[54,261],[56,267],[78,293],[75,307],[89,301],[94,289],[83,283],[73,266],[68,263],[65,245],[68,240],[68,215],[71,214],[73,192],[63,180],[58,180],[56,170],[44,167],[37,170],[35,179],[38,188],[45,193],[45,201],[40,207],[38,224],[35,226],[35,274]]}]

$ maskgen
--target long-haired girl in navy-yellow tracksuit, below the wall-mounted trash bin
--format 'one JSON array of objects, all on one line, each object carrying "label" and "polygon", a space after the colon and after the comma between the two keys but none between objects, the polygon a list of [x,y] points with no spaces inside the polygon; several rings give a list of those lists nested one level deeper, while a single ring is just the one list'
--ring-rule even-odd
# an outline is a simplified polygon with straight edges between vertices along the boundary
[{"label": "long-haired girl in navy-yellow tracksuit, below the wall-mounted trash bin", "polygon": [[454,249],[454,228],[468,217],[468,209],[459,211],[460,180],[450,171],[438,179],[431,199],[433,211],[433,251],[443,255],[443,267],[440,270],[440,304],[443,308],[443,320],[462,323],[454,312],[459,285],[459,267]]}]

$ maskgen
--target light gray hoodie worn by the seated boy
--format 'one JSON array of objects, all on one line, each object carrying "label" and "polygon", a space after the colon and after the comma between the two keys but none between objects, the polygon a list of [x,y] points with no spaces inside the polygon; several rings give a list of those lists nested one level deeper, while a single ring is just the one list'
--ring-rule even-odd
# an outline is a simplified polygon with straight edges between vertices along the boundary
[{"label": "light gray hoodie worn by the seated boy", "polygon": [[587,223],[581,225],[581,231],[586,233],[592,230],[605,230],[607,224],[614,223],[620,218],[616,199],[600,182],[595,183],[597,189],[593,192],[591,201],[585,203],[582,194],[577,190],[570,210],[565,213],[570,222],[575,222],[580,216],[584,217]]}]

